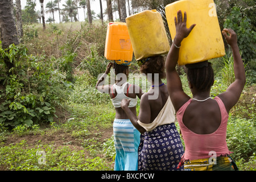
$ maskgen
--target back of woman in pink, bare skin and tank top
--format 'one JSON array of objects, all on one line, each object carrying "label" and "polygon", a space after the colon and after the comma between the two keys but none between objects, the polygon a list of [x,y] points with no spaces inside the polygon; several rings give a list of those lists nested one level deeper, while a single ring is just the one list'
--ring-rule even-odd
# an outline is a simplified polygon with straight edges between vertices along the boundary
[{"label": "back of woman in pink, bare skin and tank top", "polygon": [[[216,152],[217,156],[230,154],[226,144],[228,112],[218,97],[205,102],[212,102],[211,104],[214,103],[213,105],[217,104],[217,110],[216,107],[209,108],[208,106],[203,108],[203,105],[207,103],[202,103],[200,106],[191,99],[177,111],[176,117],[186,147],[184,159],[209,158],[212,152]],[[216,112],[216,116],[214,112]],[[188,117],[191,118],[189,119]]]}]

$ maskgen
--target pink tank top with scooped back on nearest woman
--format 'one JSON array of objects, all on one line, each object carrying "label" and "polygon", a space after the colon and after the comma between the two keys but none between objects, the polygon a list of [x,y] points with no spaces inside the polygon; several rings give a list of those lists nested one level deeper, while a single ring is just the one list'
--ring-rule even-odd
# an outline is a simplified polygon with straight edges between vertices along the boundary
[{"label": "pink tank top with scooped back on nearest woman", "polygon": [[183,160],[195,160],[210,158],[212,154],[216,156],[229,155],[231,152],[226,144],[226,126],[228,123],[228,112],[224,103],[219,97],[215,97],[221,111],[221,124],[216,131],[211,134],[196,134],[183,124],[184,111],[191,103],[192,99],[186,102],[176,113],[177,121],[185,143],[185,153]]}]

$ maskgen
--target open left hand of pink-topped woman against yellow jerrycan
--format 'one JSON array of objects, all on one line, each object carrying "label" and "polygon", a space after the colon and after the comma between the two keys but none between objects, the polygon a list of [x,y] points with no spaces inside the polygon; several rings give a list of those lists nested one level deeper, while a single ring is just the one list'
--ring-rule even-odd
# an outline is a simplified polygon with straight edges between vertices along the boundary
[{"label": "open left hand of pink-topped woman against yellow jerrycan", "polygon": [[181,41],[190,34],[196,24],[192,24],[189,28],[187,28],[187,13],[184,12],[183,19],[181,10],[177,11],[177,17],[175,16],[174,22],[176,27],[175,44],[176,46],[180,46]]}]

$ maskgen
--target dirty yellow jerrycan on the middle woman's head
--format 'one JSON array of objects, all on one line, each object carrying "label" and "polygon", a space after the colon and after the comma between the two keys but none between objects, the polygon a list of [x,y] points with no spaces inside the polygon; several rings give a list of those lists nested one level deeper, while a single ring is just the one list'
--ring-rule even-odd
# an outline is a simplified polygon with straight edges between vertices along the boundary
[{"label": "dirty yellow jerrycan on the middle woman's head", "polygon": [[170,44],[163,19],[156,10],[146,10],[126,18],[136,60],[168,53]]}]

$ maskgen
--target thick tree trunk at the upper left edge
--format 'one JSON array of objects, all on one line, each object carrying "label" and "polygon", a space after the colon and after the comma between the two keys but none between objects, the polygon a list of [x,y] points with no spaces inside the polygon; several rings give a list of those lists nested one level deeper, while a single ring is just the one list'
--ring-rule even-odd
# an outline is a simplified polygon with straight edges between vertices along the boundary
[{"label": "thick tree trunk at the upper left edge", "polygon": [[0,31],[2,47],[8,48],[10,44],[18,45],[18,35],[11,5],[13,0],[0,1]]}]

